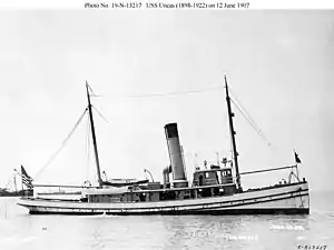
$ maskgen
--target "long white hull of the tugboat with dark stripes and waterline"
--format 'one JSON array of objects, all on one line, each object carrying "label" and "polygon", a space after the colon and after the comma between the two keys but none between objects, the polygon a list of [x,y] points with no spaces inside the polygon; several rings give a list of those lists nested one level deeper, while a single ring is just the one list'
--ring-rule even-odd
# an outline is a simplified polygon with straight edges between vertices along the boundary
[{"label": "long white hull of the tugboat with dark stripes and waterline", "polygon": [[28,208],[30,213],[65,214],[310,213],[307,182],[187,200],[96,203],[21,198],[18,204]]}]

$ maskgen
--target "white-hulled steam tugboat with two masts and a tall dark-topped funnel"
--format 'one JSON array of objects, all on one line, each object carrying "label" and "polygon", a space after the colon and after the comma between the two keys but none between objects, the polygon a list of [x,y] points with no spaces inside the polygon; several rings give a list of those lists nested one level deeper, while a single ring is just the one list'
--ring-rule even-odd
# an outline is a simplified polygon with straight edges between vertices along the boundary
[{"label": "white-hulled steam tugboat with two masts and a tall dark-topped funnel", "polygon": [[[88,112],[95,150],[98,187],[81,187],[77,200],[22,197],[18,204],[30,214],[308,214],[308,183],[299,180],[296,163],[275,169],[239,172],[230,97],[225,76],[226,103],[233,146],[230,161],[224,166],[199,169],[193,181],[186,178],[185,161],[179,142],[177,123],[165,126],[170,164],[163,169],[164,182],[135,179],[104,181],[100,173],[97,139],[90,103],[90,87],[86,82]],[[226,163],[230,162],[229,166]],[[258,189],[243,190],[240,176],[291,169],[287,182]],[[294,173],[296,170],[296,173]],[[171,178],[170,178],[171,176]],[[292,177],[295,180],[292,181]]]}]

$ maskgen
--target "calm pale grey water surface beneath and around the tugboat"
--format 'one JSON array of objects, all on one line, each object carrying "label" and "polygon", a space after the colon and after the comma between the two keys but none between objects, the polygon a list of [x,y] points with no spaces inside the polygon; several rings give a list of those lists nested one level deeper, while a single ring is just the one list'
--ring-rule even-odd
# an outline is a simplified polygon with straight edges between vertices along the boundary
[{"label": "calm pale grey water surface beneath and around the tugboat", "polygon": [[311,193],[310,216],[29,216],[0,198],[0,249],[334,249],[334,193]]}]

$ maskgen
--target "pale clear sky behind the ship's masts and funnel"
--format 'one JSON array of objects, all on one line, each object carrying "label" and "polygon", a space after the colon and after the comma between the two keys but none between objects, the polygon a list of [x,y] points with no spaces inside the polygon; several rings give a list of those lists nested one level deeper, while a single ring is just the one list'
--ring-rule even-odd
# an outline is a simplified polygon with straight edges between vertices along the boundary
[{"label": "pale clear sky behind the ship's masts and funnel", "polygon": [[141,179],[148,169],[161,181],[164,126],[177,122],[191,179],[195,162],[230,157],[226,73],[271,142],[233,107],[239,171],[294,164],[295,149],[311,190],[334,190],[333,24],[328,10],[2,10],[0,187],[20,164],[35,183],[96,181],[87,117],[43,169],[87,107],[86,80],[108,121],[94,113],[108,178]]}]

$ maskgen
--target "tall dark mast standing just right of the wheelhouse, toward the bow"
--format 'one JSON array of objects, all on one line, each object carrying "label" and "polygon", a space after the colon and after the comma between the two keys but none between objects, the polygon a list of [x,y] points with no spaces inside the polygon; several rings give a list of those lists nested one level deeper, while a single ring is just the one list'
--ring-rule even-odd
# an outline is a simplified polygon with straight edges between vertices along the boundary
[{"label": "tall dark mast standing just right of the wheelhouse, toward the bow", "polygon": [[239,166],[238,166],[238,152],[236,150],[236,141],[235,141],[235,133],[236,132],[235,132],[234,126],[233,126],[234,113],[232,112],[232,108],[230,108],[230,98],[229,98],[229,94],[228,94],[228,86],[227,86],[226,74],[225,74],[225,88],[226,88],[226,102],[227,102],[227,111],[228,111],[228,123],[229,123],[229,131],[230,131],[230,138],[232,138],[234,166],[235,166],[235,172],[236,172],[236,182],[237,182],[237,189],[242,190]]}]

